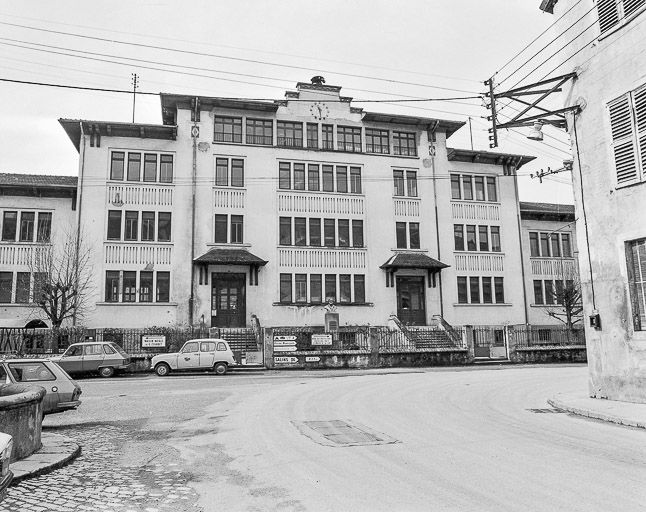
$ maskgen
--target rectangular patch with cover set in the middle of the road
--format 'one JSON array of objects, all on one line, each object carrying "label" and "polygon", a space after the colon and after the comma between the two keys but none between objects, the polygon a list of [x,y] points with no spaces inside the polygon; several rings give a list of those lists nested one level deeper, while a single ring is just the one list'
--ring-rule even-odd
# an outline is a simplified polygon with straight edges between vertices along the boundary
[{"label": "rectangular patch with cover set in the middle of the road", "polygon": [[299,432],[325,446],[366,446],[398,443],[386,434],[347,420],[292,421]]}]

